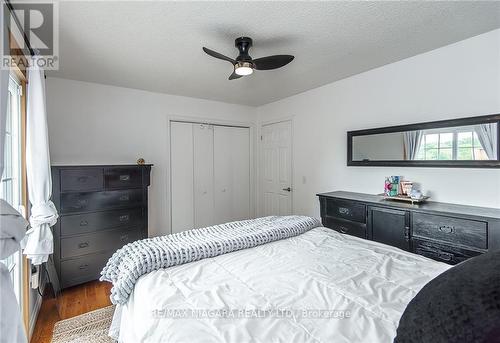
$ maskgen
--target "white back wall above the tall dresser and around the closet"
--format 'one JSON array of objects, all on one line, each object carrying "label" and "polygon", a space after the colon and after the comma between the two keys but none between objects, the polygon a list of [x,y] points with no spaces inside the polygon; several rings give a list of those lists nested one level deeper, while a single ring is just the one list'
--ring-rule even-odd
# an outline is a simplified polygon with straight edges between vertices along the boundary
[{"label": "white back wall above the tall dresser and around the closet", "polygon": [[254,125],[253,107],[47,78],[52,164],[153,163],[150,235],[170,233],[169,128],[179,116]]}]

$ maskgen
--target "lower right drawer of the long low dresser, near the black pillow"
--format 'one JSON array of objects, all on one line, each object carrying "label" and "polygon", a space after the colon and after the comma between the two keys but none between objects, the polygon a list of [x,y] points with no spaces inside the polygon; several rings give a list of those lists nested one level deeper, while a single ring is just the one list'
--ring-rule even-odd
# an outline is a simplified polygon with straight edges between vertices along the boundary
[{"label": "lower right drawer of the long low dresser, near the black pillow", "polygon": [[468,258],[481,254],[481,252],[477,251],[447,246],[445,244],[420,239],[413,240],[413,252],[448,264],[457,264],[467,260]]}]

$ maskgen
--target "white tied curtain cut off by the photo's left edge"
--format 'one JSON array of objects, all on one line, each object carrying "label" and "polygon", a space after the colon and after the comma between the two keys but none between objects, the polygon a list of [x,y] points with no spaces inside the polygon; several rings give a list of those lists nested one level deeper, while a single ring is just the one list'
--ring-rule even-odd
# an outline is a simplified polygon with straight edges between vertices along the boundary
[{"label": "white tied curtain cut off by the photo's left edge", "polygon": [[[6,29],[3,22],[4,3],[0,1],[0,35]],[[0,39],[1,41],[1,39]],[[3,58],[3,54],[1,56]],[[5,120],[9,95],[9,71],[0,70],[0,178],[4,167]],[[0,199],[0,259],[19,251],[28,223],[7,202]],[[7,267],[0,263],[0,342],[27,342],[16,294]]]}]

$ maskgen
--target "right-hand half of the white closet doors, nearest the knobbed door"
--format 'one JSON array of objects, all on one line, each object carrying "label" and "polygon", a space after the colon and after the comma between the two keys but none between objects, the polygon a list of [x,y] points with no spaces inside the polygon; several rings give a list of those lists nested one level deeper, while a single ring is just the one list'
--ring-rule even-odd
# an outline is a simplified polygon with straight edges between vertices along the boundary
[{"label": "right-hand half of the white closet doors, nearest the knobbed door", "polygon": [[214,126],[215,222],[250,217],[250,129]]}]

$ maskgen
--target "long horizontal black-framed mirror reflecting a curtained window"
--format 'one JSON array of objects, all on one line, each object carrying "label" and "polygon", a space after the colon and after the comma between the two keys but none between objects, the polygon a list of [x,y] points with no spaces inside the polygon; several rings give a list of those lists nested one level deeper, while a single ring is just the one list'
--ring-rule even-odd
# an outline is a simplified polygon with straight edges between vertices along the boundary
[{"label": "long horizontal black-framed mirror reflecting a curtained window", "polygon": [[500,114],[347,132],[347,165],[500,168]]}]

